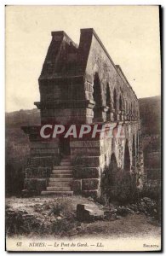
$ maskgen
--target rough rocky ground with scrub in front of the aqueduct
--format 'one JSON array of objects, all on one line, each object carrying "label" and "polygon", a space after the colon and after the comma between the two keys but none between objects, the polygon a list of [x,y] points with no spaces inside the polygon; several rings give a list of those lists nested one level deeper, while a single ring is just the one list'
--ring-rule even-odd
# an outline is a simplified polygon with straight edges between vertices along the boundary
[{"label": "rough rocky ground with scrub in front of the aqueduct", "polygon": [[[104,216],[77,219],[77,204],[97,207]],[[6,199],[7,236],[65,237],[65,236],[155,236],[159,237],[157,203],[143,198],[127,206],[103,207],[91,198],[36,197]]]}]

